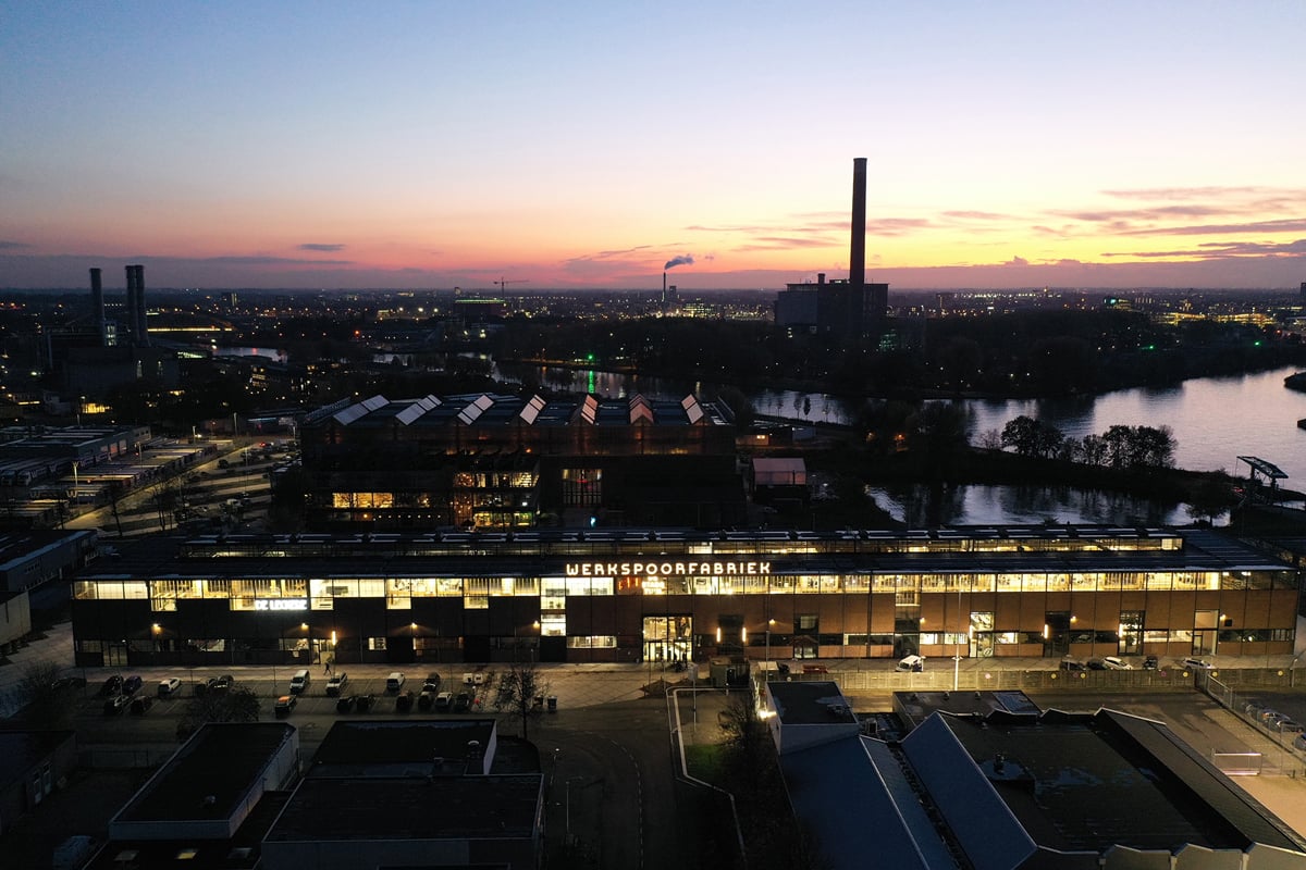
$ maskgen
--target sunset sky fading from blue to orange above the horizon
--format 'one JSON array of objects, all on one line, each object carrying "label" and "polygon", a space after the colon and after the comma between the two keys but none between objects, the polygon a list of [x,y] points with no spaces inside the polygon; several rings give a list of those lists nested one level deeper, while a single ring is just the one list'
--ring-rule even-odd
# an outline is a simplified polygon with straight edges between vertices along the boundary
[{"label": "sunset sky fading from blue to orange above the horizon", "polygon": [[1306,3],[0,7],[0,288],[1296,288]]}]

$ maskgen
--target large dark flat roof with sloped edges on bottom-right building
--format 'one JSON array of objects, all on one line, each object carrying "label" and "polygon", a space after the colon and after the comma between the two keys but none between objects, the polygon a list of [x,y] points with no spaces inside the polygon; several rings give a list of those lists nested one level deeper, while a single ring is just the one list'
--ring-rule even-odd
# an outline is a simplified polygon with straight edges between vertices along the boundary
[{"label": "large dark flat roof with sloped edges on bottom-right building", "polygon": [[[1128,713],[938,713],[902,747],[968,850],[1306,847],[1164,723]],[[994,798],[1023,836],[994,823]]]}]

